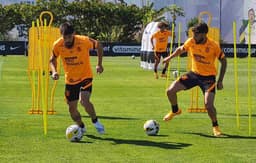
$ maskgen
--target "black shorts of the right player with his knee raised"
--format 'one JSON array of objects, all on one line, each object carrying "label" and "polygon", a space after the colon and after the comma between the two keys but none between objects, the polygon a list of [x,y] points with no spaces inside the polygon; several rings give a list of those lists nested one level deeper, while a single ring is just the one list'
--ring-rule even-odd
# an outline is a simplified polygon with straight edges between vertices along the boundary
[{"label": "black shorts of the right player with his knee raised", "polygon": [[199,86],[203,91],[203,93],[205,92],[215,93],[216,76],[214,75],[202,76],[190,71],[182,75],[179,78],[179,81],[186,87],[186,90],[193,88],[195,86]]}]

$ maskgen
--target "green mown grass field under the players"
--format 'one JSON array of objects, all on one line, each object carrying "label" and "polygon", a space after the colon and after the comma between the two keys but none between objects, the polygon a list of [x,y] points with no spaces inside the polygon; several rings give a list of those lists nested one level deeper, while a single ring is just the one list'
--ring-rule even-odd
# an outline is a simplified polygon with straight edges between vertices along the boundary
[{"label": "green mown grass field under the players", "polygon": [[[96,57],[91,59],[95,67]],[[166,81],[156,80],[152,71],[142,70],[138,57],[105,57],[105,72],[95,75],[91,100],[106,134],[96,132],[79,106],[87,133],[81,142],[70,143],[65,130],[73,122],[64,101],[63,74],[55,94],[57,114],[48,116],[48,134],[44,135],[42,115],[28,114],[31,87],[27,57],[0,56],[0,162],[256,162],[255,58],[252,62],[251,136],[247,58],[238,60],[240,128],[235,111],[234,64],[229,58],[224,90],[217,92],[215,101],[219,124],[226,135],[215,138],[206,113],[186,111],[190,91],[178,95],[183,114],[163,122],[162,117],[170,109]],[[158,136],[144,133],[143,123],[148,119],[160,123]]]}]

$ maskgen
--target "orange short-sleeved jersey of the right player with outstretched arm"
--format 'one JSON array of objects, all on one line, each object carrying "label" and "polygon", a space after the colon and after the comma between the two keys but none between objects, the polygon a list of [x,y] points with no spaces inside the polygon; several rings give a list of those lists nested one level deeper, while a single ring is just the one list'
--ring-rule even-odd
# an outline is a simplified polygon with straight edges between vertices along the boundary
[{"label": "orange short-sleeved jersey of the right player with outstretched arm", "polygon": [[191,71],[202,76],[217,74],[215,60],[225,57],[217,42],[207,38],[206,43],[196,44],[193,38],[189,38],[183,47],[191,57]]}]

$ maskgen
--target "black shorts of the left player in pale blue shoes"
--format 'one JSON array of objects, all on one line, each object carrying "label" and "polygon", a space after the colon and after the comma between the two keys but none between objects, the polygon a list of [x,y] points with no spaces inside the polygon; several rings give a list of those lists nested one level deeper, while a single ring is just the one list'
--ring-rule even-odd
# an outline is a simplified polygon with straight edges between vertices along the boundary
[{"label": "black shorts of the left player in pale blue shoes", "polygon": [[67,101],[79,100],[80,91],[92,92],[92,78],[85,79],[75,85],[65,85],[65,97]]}]

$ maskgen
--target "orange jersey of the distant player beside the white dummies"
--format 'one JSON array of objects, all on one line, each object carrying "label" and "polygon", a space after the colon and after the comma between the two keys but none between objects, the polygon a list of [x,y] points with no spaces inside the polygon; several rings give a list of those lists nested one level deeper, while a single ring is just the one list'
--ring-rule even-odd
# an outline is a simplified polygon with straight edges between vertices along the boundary
[{"label": "orange jersey of the distant player beside the white dummies", "polygon": [[169,30],[165,30],[161,32],[157,31],[152,35],[152,38],[155,39],[155,51],[156,52],[166,52],[168,37],[172,35],[172,32]]}]

